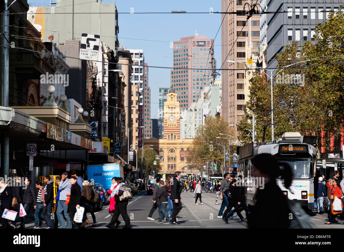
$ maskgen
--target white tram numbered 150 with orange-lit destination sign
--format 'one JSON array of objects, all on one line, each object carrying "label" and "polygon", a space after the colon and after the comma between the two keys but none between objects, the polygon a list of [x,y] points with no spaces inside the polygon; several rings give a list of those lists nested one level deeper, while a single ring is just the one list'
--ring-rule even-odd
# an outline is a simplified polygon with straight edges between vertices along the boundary
[{"label": "white tram numbered 150 with orange-lit destination sign", "polygon": [[[247,180],[247,204],[255,205],[256,179],[251,176],[251,160],[258,154],[270,153],[280,162],[288,163],[293,171],[292,184],[288,189],[283,178],[276,179],[284,195],[301,206],[313,209],[314,171],[316,168],[315,136],[301,136],[299,132],[286,132],[282,139],[253,147],[253,143],[239,148],[237,174]],[[245,179],[246,178],[246,179]],[[271,199],[272,200],[272,199]]]}]

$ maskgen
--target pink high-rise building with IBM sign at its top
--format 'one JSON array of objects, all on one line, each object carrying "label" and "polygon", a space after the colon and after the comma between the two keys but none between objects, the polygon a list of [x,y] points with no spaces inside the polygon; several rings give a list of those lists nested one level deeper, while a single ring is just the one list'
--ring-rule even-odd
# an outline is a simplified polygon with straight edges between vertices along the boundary
[{"label": "pink high-rise building with IBM sign at its top", "polygon": [[208,86],[216,69],[213,43],[214,39],[207,39],[207,36],[182,37],[173,42],[171,88],[177,94],[181,110],[197,102],[204,87]]}]

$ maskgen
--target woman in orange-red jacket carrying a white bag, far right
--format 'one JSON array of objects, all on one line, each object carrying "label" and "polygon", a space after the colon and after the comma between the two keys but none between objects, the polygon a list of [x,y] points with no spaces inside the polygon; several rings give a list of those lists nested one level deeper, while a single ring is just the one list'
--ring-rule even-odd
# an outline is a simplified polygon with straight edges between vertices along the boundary
[{"label": "woman in orange-red jacket carrying a white bag, far right", "polygon": [[[337,182],[332,179],[327,182],[326,187],[330,188],[330,201],[331,201],[331,209],[329,209],[329,221],[327,221],[325,224],[332,224],[337,223],[338,220],[336,220],[337,214],[342,213],[343,208],[343,202],[341,201],[342,197],[342,190],[337,185]],[[337,209],[338,205],[338,209]]]}]

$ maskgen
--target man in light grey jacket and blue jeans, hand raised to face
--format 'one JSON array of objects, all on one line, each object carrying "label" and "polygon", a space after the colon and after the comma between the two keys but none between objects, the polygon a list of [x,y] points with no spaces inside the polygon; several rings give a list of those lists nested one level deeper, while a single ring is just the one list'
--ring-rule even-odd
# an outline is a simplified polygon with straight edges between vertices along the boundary
[{"label": "man in light grey jacket and blue jeans, hand raised to face", "polygon": [[[68,172],[64,172],[61,176],[60,185],[58,186],[58,190],[61,190],[60,199],[58,201],[57,210],[56,210],[58,223],[60,223],[59,228],[72,228],[72,220],[67,213],[68,205],[65,204],[67,200],[67,193],[71,191],[71,187],[72,187],[72,184],[68,178]],[[63,211],[63,214],[62,214],[62,211]],[[64,222],[63,216],[67,220],[67,226]]]}]

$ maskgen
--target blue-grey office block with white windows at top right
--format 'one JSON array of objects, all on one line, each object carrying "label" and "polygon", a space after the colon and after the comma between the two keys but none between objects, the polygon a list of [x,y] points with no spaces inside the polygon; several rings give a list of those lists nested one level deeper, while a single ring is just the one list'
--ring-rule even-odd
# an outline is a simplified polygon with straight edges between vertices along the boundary
[{"label": "blue-grey office block with white windows at top right", "polygon": [[313,37],[316,35],[315,26],[324,22],[331,14],[330,11],[337,11],[341,2],[341,0],[326,1],[326,3],[323,0],[270,1],[267,11],[287,11],[287,13],[267,15],[267,67],[277,66],[276,54],[281,53],[284,46],[293,40],[300,41],[299,51],[307,41],[315,44],[316,38]]}]

